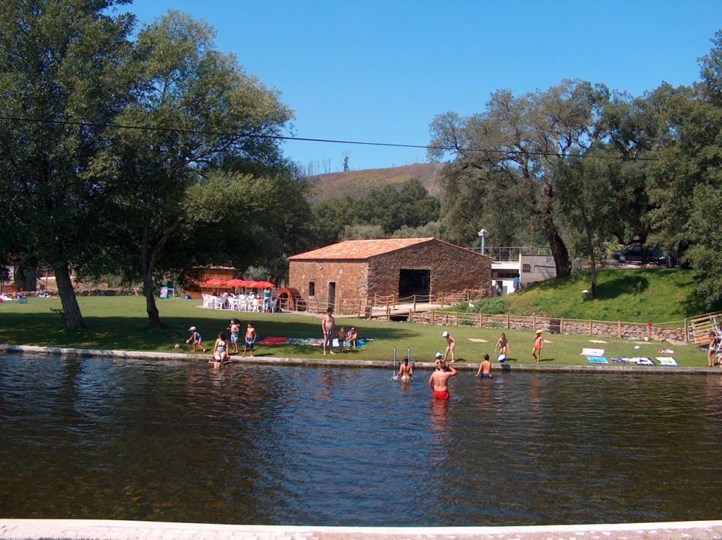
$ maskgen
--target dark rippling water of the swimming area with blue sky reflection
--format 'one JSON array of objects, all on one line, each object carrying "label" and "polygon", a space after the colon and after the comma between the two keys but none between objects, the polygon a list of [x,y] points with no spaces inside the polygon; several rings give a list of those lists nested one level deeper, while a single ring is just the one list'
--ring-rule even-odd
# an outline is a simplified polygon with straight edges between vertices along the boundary
[{"label": "dark rippling water of the swimming area with blue sky reflection", "polygon": [[482,526],[720,517],[722,379],[0,356],[0,517]]}]

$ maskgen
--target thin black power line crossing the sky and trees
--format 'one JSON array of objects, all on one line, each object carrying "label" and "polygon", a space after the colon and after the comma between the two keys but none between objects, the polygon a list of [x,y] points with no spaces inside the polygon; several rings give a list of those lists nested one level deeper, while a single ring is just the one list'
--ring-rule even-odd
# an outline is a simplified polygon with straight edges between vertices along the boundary
[{"label": "thin black power line crossing the sky and trees", "polygon": [[[11,122],[27,122],[27,123],[47,123],[57,124],[60,126],[77,126],[77,127],[91,127],[91,128],[103,128],[103,129],[135,129],[140,131],[173,131],[174,133],[183,133],[191,135],[214,135],[214,136],[241,136],[248,137],[250,139],[271,139],[278,141],[301,141],[301,142],[319,142],[327,144],[357,144],[369,147],[392,147],[392,148],[417,148],[425,150],[443,150],[444,152],[489,152],[491,154],[516,154],[516,155],[533,155],[540,157],[582,157],[589,158],[593,157],[602,160],[626,160],[627,158],[621,156],[605,156],[605,155],[583,155],[583,154],[560,154],[558,152],[540,152],[534,150],[499,150],[492,148],[465,148],[465,147],[443,147],[443,146],[430,146],[422,144],[400,144],[390,142],[370,142],[370,141],[346,141],[342,139],[316,139],[312,137],[293,137],[287,135],[269,135],[269,134],[232,134],[225,131],[207,131],[201,129],[183,129],[183,128],[158,128],[151,126],[132,126],[126,124],[117,123],[94,123],[94,122],[73,122],[65,120],[49,120],[45,118],[20,118],[18,116],[0,116],[0,120],[11,121]],[[658,161],[657,157],[635,157],[637,161]]]}]

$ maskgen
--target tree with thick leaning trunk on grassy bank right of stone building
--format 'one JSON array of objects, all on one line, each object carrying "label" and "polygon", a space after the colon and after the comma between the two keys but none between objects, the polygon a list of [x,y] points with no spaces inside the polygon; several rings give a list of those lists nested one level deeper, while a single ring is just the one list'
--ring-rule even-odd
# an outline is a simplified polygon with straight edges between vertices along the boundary
[{"label": "tree with thick leaning trunk on grassy bank right of stone building", "polygon": [[608,99],[603,85],[577,80],[521,96],[498,90],[482,113],[435,116],[429,156],[441,160],[451,154],[467,175],[501,174],[510,183],[520,183],[523,204],[529,204],[547,238],[557,276],[567,276],[571,264],[555,213],[553,164],[568,154],[586,152],[603,136],[599,118]]}]

